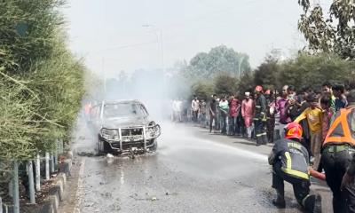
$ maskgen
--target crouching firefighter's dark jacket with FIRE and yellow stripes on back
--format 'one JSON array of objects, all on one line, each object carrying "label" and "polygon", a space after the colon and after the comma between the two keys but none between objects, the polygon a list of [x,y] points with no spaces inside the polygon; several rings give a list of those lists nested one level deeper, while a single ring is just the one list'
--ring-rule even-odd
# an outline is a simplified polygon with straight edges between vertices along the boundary
[{"label": "crouching firefighter's dark jacket with FIRE and yellow stripes on back", "polygon": [[269,164],[280,167],[285,174],[309,179],[309,155],[307,149],[299,142],[283,138],[277,140],[269,155]]}]

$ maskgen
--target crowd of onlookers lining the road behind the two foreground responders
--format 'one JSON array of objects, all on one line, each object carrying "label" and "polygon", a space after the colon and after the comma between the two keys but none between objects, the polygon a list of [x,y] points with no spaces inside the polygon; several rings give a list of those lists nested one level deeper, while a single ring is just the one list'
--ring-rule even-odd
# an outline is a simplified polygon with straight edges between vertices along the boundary
[{"label": "crowd of onlookers lining the road behind the two foreground responders", "polygon": [[299,122],[304,127],[305,143],[312,144],[309,148],[318,154],[332,115],[345,107],[347,100],[343,84],[323,83],[319,91],[296,91],[288,85],[271,91],[256,86],[243,96],[214,94],[209,102],[194,96],[188,105],[185,100],[173,100],[172,121],[196,122],[213,133],[254,139],[256,146],[282,138],[288,123]]}]

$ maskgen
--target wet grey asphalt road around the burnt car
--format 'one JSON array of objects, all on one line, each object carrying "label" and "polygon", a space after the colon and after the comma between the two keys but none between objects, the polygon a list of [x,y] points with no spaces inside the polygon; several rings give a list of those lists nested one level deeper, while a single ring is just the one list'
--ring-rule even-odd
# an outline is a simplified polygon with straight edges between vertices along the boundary
[{"label": "wet grey asphalt road around the burnt car", "polygon": [[[287,209],[272,206],[271,146],[163,123],[155,154],[107,158],[85,156],[96,148],[85,130],[77,130],[78,182],[66,204],[80,212],[301,212],[290,185]],[[327,186],[315,183],[312,191],[322,194],[323,212],[331,212]]]}]

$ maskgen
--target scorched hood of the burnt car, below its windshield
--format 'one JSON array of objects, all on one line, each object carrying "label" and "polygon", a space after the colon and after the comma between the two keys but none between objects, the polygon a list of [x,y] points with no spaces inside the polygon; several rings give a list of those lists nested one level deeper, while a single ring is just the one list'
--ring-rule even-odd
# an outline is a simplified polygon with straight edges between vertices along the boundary
[{"label": "scorched hood of the burnt car, below its windshield", "polygon": [[122,127],[145,126],[149,123],[146,117],[120,117],[106,119],[102,123],[102,127],[114,129]]}]

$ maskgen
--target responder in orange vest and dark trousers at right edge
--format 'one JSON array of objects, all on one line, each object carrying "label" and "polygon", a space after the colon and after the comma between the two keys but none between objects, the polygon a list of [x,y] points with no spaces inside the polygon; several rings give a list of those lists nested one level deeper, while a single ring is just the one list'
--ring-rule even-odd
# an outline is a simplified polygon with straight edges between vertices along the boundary
[{"label": "responder in orange vest and dark trousers at right edge", "polygon": [[[334,212],[355,212],[355,90],[349,92],[348,106],[338,111],[322,146],[321,164],[327,185],[333,192]],[[343,181],[343,183],[342,183]]]}]

